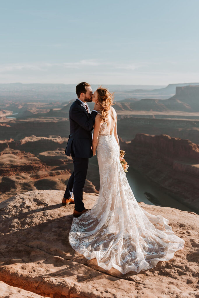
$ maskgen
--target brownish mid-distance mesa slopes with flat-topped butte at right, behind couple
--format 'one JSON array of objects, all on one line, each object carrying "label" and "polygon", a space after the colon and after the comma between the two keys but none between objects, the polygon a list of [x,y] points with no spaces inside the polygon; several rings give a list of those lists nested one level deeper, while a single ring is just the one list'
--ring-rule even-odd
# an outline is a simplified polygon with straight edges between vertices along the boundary
[{"label": "brownish mid-distance mesa slopes with flat-topped butte at right, behind couple", "polygon": [[[34,112],[34,110],[22,111],[16,115],[17,118],[28,117],[69,117],[70,101],[61,108],[51,108],[47,112]],[[93,108],[93,103],[90,103]],[[170,111],[199,112],[199,85],[176,87],[176,94],[169,99],[151,99],[144,98],[138,100],[133,97],[127,97],[124,100],[116,101],[114,108],[116,111],[157,111],[169,114]]]}]

